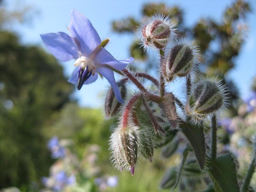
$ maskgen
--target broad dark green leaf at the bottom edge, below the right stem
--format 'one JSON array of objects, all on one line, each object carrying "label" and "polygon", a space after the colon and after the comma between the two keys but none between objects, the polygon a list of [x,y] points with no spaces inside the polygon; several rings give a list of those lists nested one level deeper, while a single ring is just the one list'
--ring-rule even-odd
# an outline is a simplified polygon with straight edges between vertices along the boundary
[{"label": "broad dark green leaf at the bottom edge, below the right stem", "polygon": [[214,161],[209,160],[207,168],[216,190],[221,189],[223,192],[239,191],[236,164],[230,153],[219,156]]}]

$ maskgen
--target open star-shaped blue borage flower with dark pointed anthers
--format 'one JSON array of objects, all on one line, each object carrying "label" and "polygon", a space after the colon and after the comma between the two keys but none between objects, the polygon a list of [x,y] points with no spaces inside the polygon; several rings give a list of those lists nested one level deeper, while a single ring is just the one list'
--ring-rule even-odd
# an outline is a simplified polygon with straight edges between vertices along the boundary
[{"label": "open star-shaped blue borage flower with dark pointed anthers", "polygon": [[116,60],[103,48],[100,36],[90,20],[76,10],[71,12],[68,30],[70,36],[64,32],[40,35],[44,45],[58,60],[66,62],[76,59],[76,68],[68,81],[77,84],[80,90],[84,84],[96,81],[100,74],[112,86],[116,99],[123,103],[113,71],[124,69],[133,58]]}]

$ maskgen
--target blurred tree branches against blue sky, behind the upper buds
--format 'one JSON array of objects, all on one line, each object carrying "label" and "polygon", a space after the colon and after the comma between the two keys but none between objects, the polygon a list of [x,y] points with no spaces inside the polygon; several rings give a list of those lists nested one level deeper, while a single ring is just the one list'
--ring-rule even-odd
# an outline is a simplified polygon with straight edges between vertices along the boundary
[{"label": "blurred tree branches against blue sky, behind the upper buds", "polygon": [[[200,47],[201,59],[198,73],[201,75],[216,75],[223,78],[223,83],[228,84],[230,103],[236,102],[238,91],[231,80],[225,78],[227,72],[234,68],[235,58],[239,54],[241,45],[244,42],[247,26],[244,22],[247,13],[251,11],[250,5],[242,0],[237,0],[231,4],[223,14],[223,20],[217,22],[213,19],[202,18],[192,28],[188,28],[183,23],[184,12],[179,7],[169,7],[166,4],[150,3],[142,7],[142,16],[150,16],[155,13],[170,15],[172,21],[177,25],[179,37],[188,37],[195,40]],[[140,20],[129,17],[112,22],[112,29],[118,33],[135,32]],[[212,46],[214,45],[214,46]],[[216,48],[217,47],[217,48]],[[131,55],[135,59],[146,60],[147,52],[143,52],[136,42],[132,43]],[[233,114],[236,109],[231,105]]]}]

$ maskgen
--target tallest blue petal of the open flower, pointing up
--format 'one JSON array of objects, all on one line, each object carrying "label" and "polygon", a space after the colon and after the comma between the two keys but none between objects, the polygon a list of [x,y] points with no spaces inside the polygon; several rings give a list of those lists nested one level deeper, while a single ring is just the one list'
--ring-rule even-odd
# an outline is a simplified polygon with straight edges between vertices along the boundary
[{"label": "tallest blue petal of the open flower, pointing up", "polygon": [[100,36],[90,20],[76,10],[71,12],[68,29],[70,36],[77,39],[81,45],[82,53],[87,57],[101,44]]}]

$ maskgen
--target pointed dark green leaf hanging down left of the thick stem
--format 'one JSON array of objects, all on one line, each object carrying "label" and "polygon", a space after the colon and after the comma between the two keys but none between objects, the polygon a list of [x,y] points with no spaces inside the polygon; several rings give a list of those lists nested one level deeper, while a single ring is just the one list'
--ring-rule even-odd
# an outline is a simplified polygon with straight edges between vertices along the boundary
[{"label": "pointed dark green leaf hanging down left of the thick stem", "polygon": [[[188,122],[190,119],[188,119]],[[204,126],[202,124],[192,125],[183,122],[180,124],[181,131],[187,137],[191,147],[194,149],[196,159],[201,169],[204,169],[205,163],[205,142]]]}]

